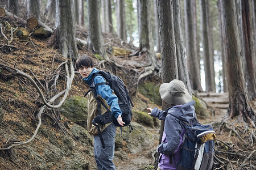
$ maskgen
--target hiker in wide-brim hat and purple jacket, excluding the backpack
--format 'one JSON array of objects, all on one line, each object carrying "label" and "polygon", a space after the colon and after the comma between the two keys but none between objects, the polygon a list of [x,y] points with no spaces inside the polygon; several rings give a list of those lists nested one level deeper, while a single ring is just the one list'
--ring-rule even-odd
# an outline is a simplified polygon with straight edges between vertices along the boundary
[{"label": "hiker in wide-brim hat and purple jacket, excluding the backpack", "polygon": [[181,158],[181,145],[185,133],[185,124],[195,125],[198,122],[195,113],[195,101],[189,95],[185,84],[180,80],[172,80],[170,83],[163,83],[159,88],[161,98],[171,107],[162,111],[158,108],[147,108],[152,117],[164,120],[164,131],[162,143],[158,146],[160,153],[158,169],[176,169]]}]

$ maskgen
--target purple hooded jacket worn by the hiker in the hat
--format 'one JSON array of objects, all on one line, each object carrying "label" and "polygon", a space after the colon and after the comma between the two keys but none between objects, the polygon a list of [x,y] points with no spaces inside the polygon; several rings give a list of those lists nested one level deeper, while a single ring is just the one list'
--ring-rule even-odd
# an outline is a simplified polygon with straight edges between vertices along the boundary
[{"label": "purple hooded jacket worn by the hiker in the hat", "polygon": [[177,105],[166,111],[157,108],[152,110],[151,116],[165,121],[162,143],[158,146],[158,152],[160,152],[158,166],[160,169],[176,169],[177,164],[179,164],[181,145],[185,133],[181,122],[193,124],[193,121],[196,120],[194,104],[195,101],[189,101],[184,105]]}]

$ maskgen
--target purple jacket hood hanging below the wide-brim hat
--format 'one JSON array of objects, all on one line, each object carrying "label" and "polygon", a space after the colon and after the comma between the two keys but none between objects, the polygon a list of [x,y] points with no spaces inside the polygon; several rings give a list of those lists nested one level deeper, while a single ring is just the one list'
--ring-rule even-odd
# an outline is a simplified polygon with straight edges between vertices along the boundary
[{"label": "purple jacket hood hanging below the wide-brim hat", "polygon": [[180,120],[188,122],[188,124],[191,124],[192,120],[194,120],[194,118],[196,117],[194,107],[195,103],[196,101],[189,101],[186,104],[172,107],[168,110],[168,113],[176,118],[179,118]]}]

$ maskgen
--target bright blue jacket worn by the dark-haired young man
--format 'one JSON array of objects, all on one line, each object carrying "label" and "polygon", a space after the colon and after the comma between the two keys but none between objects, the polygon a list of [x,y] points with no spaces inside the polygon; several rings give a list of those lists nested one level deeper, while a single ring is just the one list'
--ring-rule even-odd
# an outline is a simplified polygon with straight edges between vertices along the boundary
[{"label": "bright blue jacket worn by the dark-haired young man", "polygon": [[[92,70],[92,73],[90,73],[90,75],[87,78],[84,78],[85,83],[88,84],[90,86],[90,84],[92,83],[92,77],[94,74],[98,73],[98,71],[95,67]],[[97,75],[94,78],[94,83],[103,83],[106,82],[106,80],[104,79],[103,76],[101,75]],[[97,95],[100,95],[103,99],[105,99],[108,102],[108,105],[111,106],[111,114],[117,118],[119,114],[121,114],[122,116],[122,112],[121,109],[118,105],[118,98],[117,96],[113,93],[113,90],[110,88],[110,86],[106,85],[106,84],[102,84],[100,86],[96,86],[96,92]]]}]

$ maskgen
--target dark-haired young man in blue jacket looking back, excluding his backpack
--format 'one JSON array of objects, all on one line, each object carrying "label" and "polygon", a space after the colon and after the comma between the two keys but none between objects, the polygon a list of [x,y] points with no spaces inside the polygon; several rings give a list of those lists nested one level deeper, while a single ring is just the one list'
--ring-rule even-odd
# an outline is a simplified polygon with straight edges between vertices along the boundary
[{"label": "dark-haired young man in blue jacket looking back, excluding his backpack", "polygon": [[[92,82],[94,74],[99,70],[94,67],[92,59],[84,55],[77,59],[76,68],[82,76],[82,80],[90,87],[92,83],[106,83],[106,80],[101,75],[97,75]],[[104,102],[105,105],[109,106],[111,114],[117,119],[119,125],[123,126],[125,122],[122,121],[122,112],[117,103],[118,98],[114,95],[113,90],[106,84],[101,84],[96,86],[96,92],[98,97]],[[89,133],[94,139],[94,158],[97,163],[98,169],[115,169],[113,163],[114,158],[114,138],[116,126],[113,122],[105,124],[101,130],[101,135],[105,143],[105,148],[101,145],[100,136],[98,135],[98,130],[96,126],[92,124],[94,117],[98,115],[97,112],[97,99],[93,96],[93,92],[88,93],[88,119],[87,127]],[[101,105],[101,114],[104,114],[107,110]]]}]

